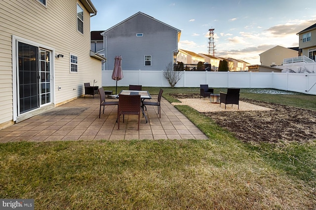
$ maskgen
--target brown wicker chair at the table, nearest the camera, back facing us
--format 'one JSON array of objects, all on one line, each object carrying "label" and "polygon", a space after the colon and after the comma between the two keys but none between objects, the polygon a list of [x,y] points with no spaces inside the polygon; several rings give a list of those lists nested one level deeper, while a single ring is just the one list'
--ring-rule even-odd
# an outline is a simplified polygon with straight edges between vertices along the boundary
[{"label": "brown wicker chair at the table, nearest the camera, back facing us", "polygon": [[138,129],[137,130],[139,130],[140,112],[141,112],[140,95],[119,94],[118,96],[118,130],[119,130],[120,115],[123,115],[123,123],[124,123],[125,114],[138,115]]}]

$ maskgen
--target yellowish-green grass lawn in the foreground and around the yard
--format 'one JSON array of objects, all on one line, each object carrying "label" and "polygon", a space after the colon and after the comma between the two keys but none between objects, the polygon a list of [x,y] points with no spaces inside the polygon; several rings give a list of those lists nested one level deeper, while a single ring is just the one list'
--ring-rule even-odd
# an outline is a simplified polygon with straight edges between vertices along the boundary
[{"label": "yellowish-green grass lawn in the foreground and around the yard", "polygon": [[[199,92],[163,89],[169,101],[168,93]],[[311,95],[240,95],[316,110]],[[316,140],[244,143],[191,107],[177,108],[209,140],[0,144],[0,198],[33,198],[37,210],[315,209]]]}]

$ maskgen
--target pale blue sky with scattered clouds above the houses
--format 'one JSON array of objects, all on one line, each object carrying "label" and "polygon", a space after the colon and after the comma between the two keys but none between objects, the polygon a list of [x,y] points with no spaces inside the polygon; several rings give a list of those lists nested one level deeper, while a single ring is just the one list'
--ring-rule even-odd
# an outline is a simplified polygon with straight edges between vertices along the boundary
[{"label": "pale blue sky with scattered clouds above the houses", "polygon": [[260,64],[260,53],[298,47],[300,31],[316,23],[316,3],[298,0],[91,0],[91,31],[106,31],[137,12],[181,30],[179,49]]}]

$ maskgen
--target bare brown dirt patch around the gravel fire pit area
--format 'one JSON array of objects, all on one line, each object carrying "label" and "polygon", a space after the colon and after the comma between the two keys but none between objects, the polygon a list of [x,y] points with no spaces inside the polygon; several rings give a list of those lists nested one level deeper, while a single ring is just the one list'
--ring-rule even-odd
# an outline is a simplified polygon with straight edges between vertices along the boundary
[{"label": "bare brown dirt patch around the gravel fire pit area", "polygon": [[[199,98],[198,94],[170,95],[177,99]],[[243,98],[240,101],[274,110],[200,113],[233,132],[237,139],[246,142],[316,140],[316,111]]]}]

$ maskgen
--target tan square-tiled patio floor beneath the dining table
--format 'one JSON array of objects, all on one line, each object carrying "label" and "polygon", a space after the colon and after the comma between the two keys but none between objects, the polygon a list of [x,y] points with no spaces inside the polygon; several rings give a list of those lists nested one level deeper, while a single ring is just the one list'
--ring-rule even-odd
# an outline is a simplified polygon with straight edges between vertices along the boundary
[{"label": "tan square-tiled patio floor beneath the dining table", "polygon": [[[152,96],[153,101],[157,96]],[[114,99],[107,99],[114,100]],[[157,106],[147,106],[145,118],[140,120],[137,131],[137,116],[122,117],[118,130],[117,106],[106,106],[99,118],[100,98],[98,95],[79,98],[65,105],[55,107],[40,115],[0,130],[0,142],[14,141],[57,141],[57,140],[160,140],[160,139],[207,139],[207,137],[173,105],[161,98],[161,118],[158,118]],[[60,108],[76,109],[81,113],[59,115]],[[51,113],[55,111],[55,113]],[[73,113],[71,113],[73,114]]]}]

